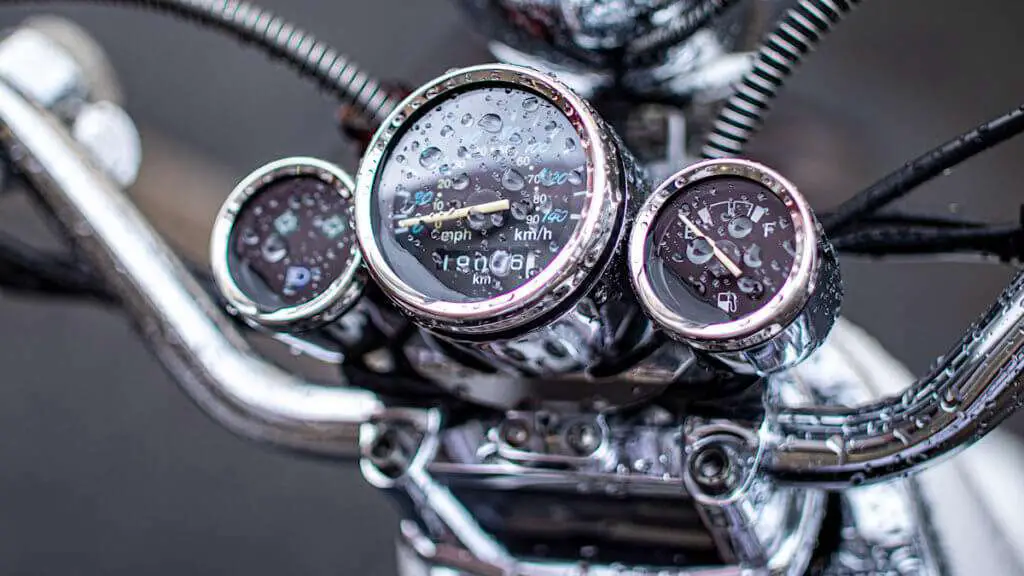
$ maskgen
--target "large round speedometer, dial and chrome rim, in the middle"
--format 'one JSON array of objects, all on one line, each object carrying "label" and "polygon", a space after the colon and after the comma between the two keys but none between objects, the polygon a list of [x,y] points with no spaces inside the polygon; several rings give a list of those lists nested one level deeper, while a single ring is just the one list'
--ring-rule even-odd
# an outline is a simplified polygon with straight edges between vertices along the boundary
[{"label": "large round speedometer, dial and chrome rim, in the middle", "polygon": [[450,331],[536,320],[583,284],[621,223],[604,130],[579,96],[528,69],[476,67],[421,88],[360,167],[356,228],[371,272]]}]

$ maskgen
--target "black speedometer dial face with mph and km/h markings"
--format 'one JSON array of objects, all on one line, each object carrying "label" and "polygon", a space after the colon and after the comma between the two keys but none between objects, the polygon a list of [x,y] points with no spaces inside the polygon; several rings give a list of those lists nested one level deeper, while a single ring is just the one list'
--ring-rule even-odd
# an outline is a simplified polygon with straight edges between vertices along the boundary
[{"label": "black speedometer dial face with mph and km/h markings", "polygon": [[383,159],[376,241],[427,298],[500,296],[549,265],[580,225],[589,199],[580,135],[519,88],[478,87],[428,106]]}]

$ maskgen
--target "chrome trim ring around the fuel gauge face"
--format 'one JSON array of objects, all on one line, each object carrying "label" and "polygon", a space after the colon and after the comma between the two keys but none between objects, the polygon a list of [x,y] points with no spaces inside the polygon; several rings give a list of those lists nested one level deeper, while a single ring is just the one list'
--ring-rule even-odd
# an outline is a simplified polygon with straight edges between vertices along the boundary
[{"label": "chrome trim ring around the fuel gauge face", "polygon": [[[693,183],[718,176],[748,178],[774,193],[793,219],[797,255],[785,283],[762,307],[737,320],[705,324],[683,318],[657,297],[647,275],[645,248],[651,227],[663,206]],[[673,174],[655,189],[640,208],[630,235],[630,279],[641,305],[669,335],[701,349],[745,349],[780,334],[803,312],[817,282],[819,240],[817,219],[810,205],[797,187],[780,174],[749,160],[707,160]]]}]

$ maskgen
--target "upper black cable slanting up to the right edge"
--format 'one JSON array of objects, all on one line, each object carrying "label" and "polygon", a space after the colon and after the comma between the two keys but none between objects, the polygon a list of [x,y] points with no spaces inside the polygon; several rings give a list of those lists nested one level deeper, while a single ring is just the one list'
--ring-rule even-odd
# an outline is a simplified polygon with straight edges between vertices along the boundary
[{"label": "upper black cable slanting up to the right edge", "polygon": [[1024,106],[985,122],[907,162],[898,170],[844,202],[835,212],[822,217],[821,223],[828,234],[842,231],[858,218],[905,196],[943,171],[1022,131],[1024,131]]}]

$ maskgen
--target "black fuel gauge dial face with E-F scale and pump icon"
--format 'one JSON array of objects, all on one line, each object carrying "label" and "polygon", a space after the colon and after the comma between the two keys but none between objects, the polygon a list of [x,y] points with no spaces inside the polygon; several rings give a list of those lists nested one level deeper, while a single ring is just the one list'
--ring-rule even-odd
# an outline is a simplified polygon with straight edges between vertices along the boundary
[{"label": "black fuel gauge dial face with E-F scale and pump icon", "polygon": [[707,324],[760,310],[785,284],[798,248],[790,209],[760,182],[736,176],[677,192],[647,237],[647,274],[679,316]]}]

